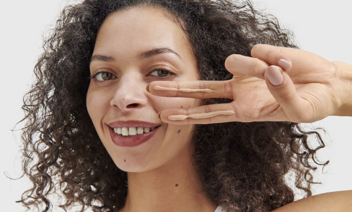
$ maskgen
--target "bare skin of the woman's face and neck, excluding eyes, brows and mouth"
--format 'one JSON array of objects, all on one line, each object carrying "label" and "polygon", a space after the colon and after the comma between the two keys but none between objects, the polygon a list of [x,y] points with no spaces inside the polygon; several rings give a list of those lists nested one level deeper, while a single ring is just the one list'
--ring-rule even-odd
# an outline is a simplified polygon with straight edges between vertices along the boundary
[{"label": "bare skin of the woman's face and neck, excluding eyes, brows and mouth", "polygon": [[[159,33],[164,28],[168,30]],[[163,211],[185,211],[192,207],[197,208],[196,211],[211,212],[216,207],[202,191],[195,167],[190,165],[194,152],[190,136],[193,125],[166,124],[158,118],[158,112],[163,109],[194,107],[200,101],[158,97],[145,90],[146,84],[155,80],[189,81],[199,78],[195,59],[186,44],[186,36],[180,26],[154,8],[134,7],[115,12],[108,16],[99,30],[93,57],[105,55],[113,57],[114,61],[91,62],[91,75],[105,71],[116,77],[106,81],[99,81],[99,77],[91,80],[87,108],[109,155],[121,170],[128,172],[128,194],[122,212],[152,211],[155,205]],[[181,58],[173,53],[146,59],[138,56],[155,48],[169,48]],[[157,71],[149,72],[165,67],[174,75],[163,78],[157,76]],[[107,124],[128,120],[148,121],[160,126],[156,134],[143,144],[116,146]],[[162,182],[160,179],[163,179]],[[178,186],[175,187],[175,184]],[[181,202],[183,204],[179,205]]]}]

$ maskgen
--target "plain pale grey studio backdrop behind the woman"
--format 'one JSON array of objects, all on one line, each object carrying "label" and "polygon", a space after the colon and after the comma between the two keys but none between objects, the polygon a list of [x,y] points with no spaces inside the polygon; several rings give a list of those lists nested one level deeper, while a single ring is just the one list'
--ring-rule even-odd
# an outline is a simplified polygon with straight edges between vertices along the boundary
[{"label": "plain pale grey studio backdrop behind the woman", "polygon": [[[22,97],[32,82],[33,67],[42,52],[42,37],[52,28],[57,15],[68,0],[5,1],[1,5],[1,211],[25,211],[19,200],[29,187],[26,178],[10,180],[6,176],[21,176],[20,132],[11,131],[23,117]],[[351,1],[334,0],[254,0],[256,8],[275,15],[282,26],[293,30],[298,46],[329,61],[352,64]],[[351,117],[327,117],[308,124],[323,127],[321,132],[327,148],[319,151],[329,165],[316,171],[321,185],[313,194],[351,190]],[[20,125],[19,125],[20,126]],[[62,211],[54,207],[53,211]]]}]

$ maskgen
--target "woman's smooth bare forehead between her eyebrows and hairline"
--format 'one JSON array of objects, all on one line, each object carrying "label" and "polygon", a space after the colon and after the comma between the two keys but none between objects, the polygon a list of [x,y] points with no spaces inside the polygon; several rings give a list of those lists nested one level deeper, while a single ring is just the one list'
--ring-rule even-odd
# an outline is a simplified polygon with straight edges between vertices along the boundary
[{"label": "woman's smooth bare forehead between her eyebrows and hairline", "polygon": [[99,29],[95,50],[119,48],[128,52],[168,47],[193,55],[181,26],[165,13],[158,8],[132,7],[110,14]]}]

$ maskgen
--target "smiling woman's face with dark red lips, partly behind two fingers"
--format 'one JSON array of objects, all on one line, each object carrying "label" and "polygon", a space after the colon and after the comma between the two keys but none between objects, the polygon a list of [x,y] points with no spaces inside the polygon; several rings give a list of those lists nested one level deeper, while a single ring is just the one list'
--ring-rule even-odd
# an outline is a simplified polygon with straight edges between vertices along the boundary
[{"label": "smiling woman's face with dark red lips, partly behind two fingers", "polygon": [[161,10],[133,7],[109,15],[99,29],[90,74],[88,112],[120,169],[149,171],[191,155],[193,125],[163,123],[158,112],[200,101],[145,89],[156,80],[199,79],[186,35]]}]

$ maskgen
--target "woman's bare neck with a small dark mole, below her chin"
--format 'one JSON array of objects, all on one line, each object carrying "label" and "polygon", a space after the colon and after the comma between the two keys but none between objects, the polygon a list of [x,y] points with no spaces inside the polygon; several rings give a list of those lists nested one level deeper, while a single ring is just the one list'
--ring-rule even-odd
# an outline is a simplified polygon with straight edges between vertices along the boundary
[{"label": "woman's bare neck with a small dark mole, below her chin", "polygon": [[191,155],[186,152],[151,171],[128,172],[128,193],[121,211],[214,212],[217,205],[202,190]]}]

